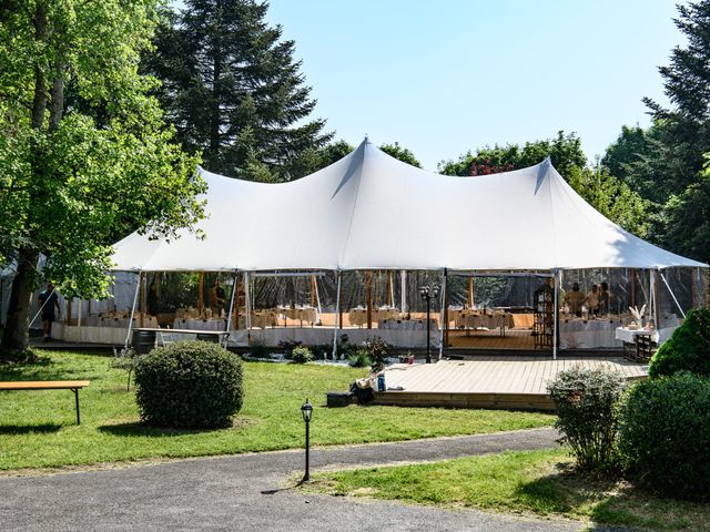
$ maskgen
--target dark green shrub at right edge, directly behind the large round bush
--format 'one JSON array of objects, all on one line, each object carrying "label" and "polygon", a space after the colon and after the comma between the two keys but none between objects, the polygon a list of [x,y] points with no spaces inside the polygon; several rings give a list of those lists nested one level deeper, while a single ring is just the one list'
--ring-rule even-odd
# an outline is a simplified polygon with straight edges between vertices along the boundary
[{"label": "dark green shrub at right edge, directly behind the large round bush", "polygon": [[688,313],[683,324],[653,355],[651,378],[687,370],[710,377],[710,308]]}]

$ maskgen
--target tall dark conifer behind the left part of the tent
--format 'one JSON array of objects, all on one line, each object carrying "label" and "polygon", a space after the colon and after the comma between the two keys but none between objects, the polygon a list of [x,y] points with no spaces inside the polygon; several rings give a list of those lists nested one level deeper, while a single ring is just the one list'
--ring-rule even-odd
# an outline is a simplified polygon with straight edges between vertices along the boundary
[{"label": "tall dark conifer behind the left part of the tent", "polygon": [[[236,177],[290,181],[301,158],[331,137],[325,121],[305,122],[315,100],[294,62],[294,41],[264,22],[254,0],[186,0],[166,11],[144,68],[163,81],[158,98],[190,151]],[[307,157],[306,157],[307,158]]]}]

